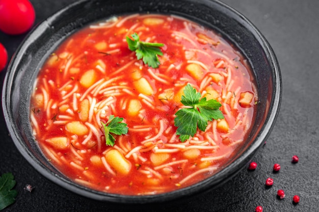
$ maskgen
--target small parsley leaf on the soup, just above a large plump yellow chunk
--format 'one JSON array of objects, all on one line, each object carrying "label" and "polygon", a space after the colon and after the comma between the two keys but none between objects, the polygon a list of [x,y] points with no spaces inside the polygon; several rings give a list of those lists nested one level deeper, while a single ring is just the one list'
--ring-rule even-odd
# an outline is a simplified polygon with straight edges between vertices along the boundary
[{"label": "small parsley leaf on the soup, just above a large plump yellow chunk", "polygon": [[105,142],[107,143],[107,145],[114,145],[115,138],[110,133],[114,133],[116,135],[127,134],[128,127],[127,124],[122,123],[123,119],[124,118],[114,117],[114,115],[110,115],[109,120],[106,124],[101,122],[104,128]]}]

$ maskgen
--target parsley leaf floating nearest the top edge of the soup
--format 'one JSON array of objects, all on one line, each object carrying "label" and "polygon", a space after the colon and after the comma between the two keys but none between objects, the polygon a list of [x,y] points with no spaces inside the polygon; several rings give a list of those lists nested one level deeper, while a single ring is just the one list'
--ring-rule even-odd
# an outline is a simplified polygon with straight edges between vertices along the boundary
[{"label": "parsley leaf floating nearest the top edge of the soup", "polygon": [[152,68],[158,68],[160,63],[157,55],[163,55],[163,52],[159,47],[164,46],[164,44],[140,41],[140,37],[137,33],[132,34],[131,37],[133,40],[126,36],[129,50],[135,51],[138,59],[143,58],[144,64]]}]

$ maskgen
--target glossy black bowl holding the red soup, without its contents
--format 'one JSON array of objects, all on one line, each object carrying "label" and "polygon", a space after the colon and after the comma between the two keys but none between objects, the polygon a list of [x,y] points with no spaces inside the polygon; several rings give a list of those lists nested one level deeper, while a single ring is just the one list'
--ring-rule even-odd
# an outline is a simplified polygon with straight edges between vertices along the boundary
[{"label": "glossy black bowl holding the red soup, without its contents", "polygon": [[[127,13],[164,13],[189,18],[215,29],[242,51],[251,65],[259,92],[255,123],[240,153],[221,171],[199,183],[169,193],[125,196],[75,184],[43,156],[33,140],[29,121],[32,86],[45,58],[68,35],[91,22]],[[6,75],[2,104],[8,130],[20,153],[54,183],[77,194],[119,203],[164,202],[217,187],[240,171],[269,136],[281,102],[281,76],[276,56],[258,29],[229,6],[209,0],[82,0],[40,23],[14,54]]]}]

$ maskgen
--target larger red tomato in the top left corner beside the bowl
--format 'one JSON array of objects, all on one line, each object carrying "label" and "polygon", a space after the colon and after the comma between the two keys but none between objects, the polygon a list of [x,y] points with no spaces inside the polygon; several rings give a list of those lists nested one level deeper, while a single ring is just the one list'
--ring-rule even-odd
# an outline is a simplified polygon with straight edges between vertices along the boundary
[{"label": "larger red tomato in the top left corner beside the bowl", "polygon": [[35,21],[29,0],[0,0],[0,30],[9,35],[28,31]]}]

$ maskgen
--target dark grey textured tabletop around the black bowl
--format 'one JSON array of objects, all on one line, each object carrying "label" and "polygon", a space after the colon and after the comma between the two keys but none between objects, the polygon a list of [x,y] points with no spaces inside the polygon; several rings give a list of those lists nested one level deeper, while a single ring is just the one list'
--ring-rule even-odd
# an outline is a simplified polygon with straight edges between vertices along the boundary
[{"label": "dark grey textured tabletop around the black bowl", "polygon": [[[45,19],[69,1],[31,0],[37,18]],[[16,202],[4,211],[317,211],[319,207],[319,1],[224,0],[245,15],[272,45],[279,60],[283,98],[275,128],[254,161],[255,171],[242,170],[220,188],[182,201],[150,206],[123,206],[78,196],[51,183],[32,168],[11,141],[4,118],[0,116],[0,174],[12,172],[17,181]],[[9,57],[25,35],[0,32],[0,42]],[[0,74],[3,81],[5,71]],[[299,163],[291,163],[293,155]],[[277,173],[274,163],[281,165]],[[267,177],[274,185],[265,188]],[[30,184],[30,193],[23,188]],[[283,189],[286,197],[276,196]],[[301,200],[293,204],[297,194]]]}]

